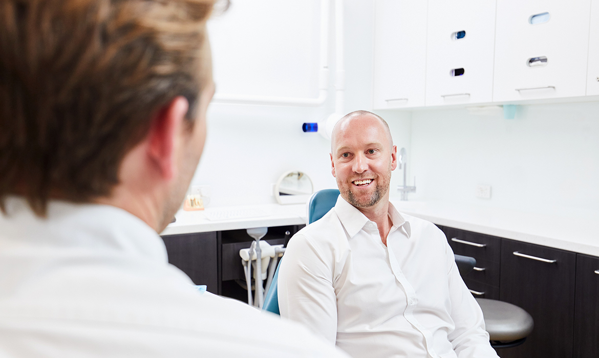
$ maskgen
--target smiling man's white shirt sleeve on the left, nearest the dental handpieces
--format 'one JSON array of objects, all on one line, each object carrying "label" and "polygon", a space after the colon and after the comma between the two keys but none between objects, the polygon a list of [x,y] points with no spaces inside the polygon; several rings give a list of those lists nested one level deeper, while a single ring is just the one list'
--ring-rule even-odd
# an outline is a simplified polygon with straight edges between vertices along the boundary
[{"label": "smiling man's white shirt sleeve on the left, nearest the dental handpieces", "polygon": [[337,339],[337,297],[332,285],[333,259],[325,259],[301,234],[289,241],[279,268],[281,317],[304,324],[326,341]]}]

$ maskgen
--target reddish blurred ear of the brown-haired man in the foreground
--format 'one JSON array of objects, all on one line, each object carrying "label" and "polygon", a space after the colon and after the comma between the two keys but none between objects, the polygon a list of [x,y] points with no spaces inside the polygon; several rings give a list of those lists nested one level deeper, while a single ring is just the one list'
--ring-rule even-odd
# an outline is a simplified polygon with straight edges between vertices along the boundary
[{"label": "reddish blurred ear of the brown-haired man in the foreground", "polygon": [[183,96],[168,102],[156,113],[146,137],[147,157],[165,180],[171,180],[176,175],[177,146],[184,130],[188,108],[189,103]]}]

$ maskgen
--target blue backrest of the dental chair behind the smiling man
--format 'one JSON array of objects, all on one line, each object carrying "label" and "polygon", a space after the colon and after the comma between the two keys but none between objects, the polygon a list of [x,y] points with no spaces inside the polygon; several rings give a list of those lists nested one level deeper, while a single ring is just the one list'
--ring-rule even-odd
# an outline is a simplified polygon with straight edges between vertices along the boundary
[{"label": "blue backrest of the dental chair behind the smiling man", "polygon": [[[320,219],[321,217],[325,216],[325,214],[328,213],[331,210],[331,208],[335,206],[338,196],[338,189],[323,189],[312,194],[312,196],[310,197],[310,201],[308,201],[307,208],[308,224],[311,224],[316,220]],[[279,281],[279,268],[281,266],[282,260],[283,257],[281,257],[281,259],[279,260],[279,265],[277,265],[277,271],[274,272],[273,282],[270,284],[270,289],[268,289],[266,298],[264,298],[262,311],[281,314],[279,311],[279,290],[277,289],[277,282]]]}]

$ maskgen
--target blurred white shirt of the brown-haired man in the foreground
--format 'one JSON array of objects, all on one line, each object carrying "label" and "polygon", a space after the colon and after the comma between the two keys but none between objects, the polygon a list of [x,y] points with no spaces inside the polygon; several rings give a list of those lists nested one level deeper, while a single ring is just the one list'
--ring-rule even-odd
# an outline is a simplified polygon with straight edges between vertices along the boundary
[{"label": "blurred white shirt of the brown-haired man in the foreground", "polygon": [[0,357],[346,357],[299,324],[199,293],[164,242],[108,205],[0,214]]}]

